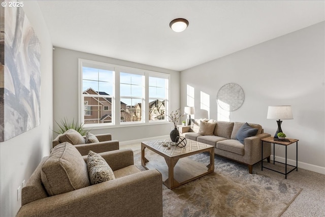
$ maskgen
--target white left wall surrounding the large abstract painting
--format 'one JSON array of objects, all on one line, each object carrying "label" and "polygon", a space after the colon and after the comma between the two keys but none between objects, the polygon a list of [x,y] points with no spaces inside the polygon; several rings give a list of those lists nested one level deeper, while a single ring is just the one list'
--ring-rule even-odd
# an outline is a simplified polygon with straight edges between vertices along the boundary
[{"label": "white left wall surrounding the large abstract painting", "polygon": [[52,110],[52,43],[39,6],[24,1],[23,10],[41,41],[41,124],[40,126],[0,143],[0,215],[15,216],[21,206],[17,188],[50,151],[53,127]]}]

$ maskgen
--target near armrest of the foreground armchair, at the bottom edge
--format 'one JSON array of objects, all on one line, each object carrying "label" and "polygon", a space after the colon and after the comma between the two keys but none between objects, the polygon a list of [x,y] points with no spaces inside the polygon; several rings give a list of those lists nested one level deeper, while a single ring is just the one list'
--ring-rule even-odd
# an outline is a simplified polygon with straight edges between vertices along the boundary
[{"label": "near armrest of the foreground armchair, at the bottom edge", "polygon": [[22,206],[21,216],[163,216],[161,174],[147,170]]}]

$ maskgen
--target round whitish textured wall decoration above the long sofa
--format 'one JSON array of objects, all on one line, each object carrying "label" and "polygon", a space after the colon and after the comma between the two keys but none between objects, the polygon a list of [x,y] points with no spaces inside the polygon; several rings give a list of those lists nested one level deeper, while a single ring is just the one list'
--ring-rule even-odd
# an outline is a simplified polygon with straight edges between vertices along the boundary
[{"label": "round whitish textured wall decoration above the long sofa", "polygon": [[223,110],[235,111],[244,103],[244,91],[236,83],[223,85],[217,93],[217,103]]}]

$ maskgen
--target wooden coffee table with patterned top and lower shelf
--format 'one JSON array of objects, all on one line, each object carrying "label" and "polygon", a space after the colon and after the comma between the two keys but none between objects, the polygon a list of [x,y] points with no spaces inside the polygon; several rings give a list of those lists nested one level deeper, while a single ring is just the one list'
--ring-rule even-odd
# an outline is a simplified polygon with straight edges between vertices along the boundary
[{"label": "wooden coffee table with patterned top and lower shelf", "polygon": [[[174,189],[214,171],[214,146],[187,139],[185,147],[171,146],[168,149],[161,142],[170,142],[170,139],[141,142],[141,164],[146,169],[157,169],[163,176],[163,183],[167,188]],[[145,158],[146,148],[159,156],[155,155],[149,161]],[[187,158],[201,152],[209,152],[208,165]]]}]

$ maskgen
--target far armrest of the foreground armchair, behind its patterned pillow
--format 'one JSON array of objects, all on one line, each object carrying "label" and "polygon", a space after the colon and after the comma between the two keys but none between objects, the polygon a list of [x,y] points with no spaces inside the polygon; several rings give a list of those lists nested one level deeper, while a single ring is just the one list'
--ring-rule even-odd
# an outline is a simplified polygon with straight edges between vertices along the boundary
[{"label": "far armrest of the foreground armchair, behind its patterned pillow", "polygon": [[[134,164],[133,150],[130,148],[107,151],[99,154],[104,158],[104,160],[108,163],[108,165],[112,168],[113,171]],[[82,157],[83,160],[87,162],[88,156],[86,155]]]}]

